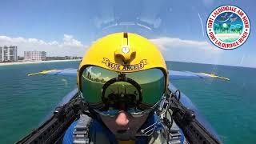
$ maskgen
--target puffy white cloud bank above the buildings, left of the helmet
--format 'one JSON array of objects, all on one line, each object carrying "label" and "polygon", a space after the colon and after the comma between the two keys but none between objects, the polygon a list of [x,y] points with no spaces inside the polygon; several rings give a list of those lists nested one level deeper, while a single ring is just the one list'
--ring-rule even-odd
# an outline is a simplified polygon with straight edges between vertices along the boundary
[{"label": "puffy white cloud bank above the buildings, left of the helmet", "polygon": [[86,46],[74,38],[73,35],[64,34],[62,42],[45,42],[37,38],[11,38],[0,36],[0,46],[18,46],[18,55],[23,56],[26,50],[46,51],[48,56],[82,56]]}]

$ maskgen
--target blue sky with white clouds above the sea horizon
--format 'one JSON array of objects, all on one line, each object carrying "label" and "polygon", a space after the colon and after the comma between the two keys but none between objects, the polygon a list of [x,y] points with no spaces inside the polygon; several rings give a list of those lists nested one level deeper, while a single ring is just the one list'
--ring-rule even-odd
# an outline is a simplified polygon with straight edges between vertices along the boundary
[{"label": "blue sky with white clouds above the sea horizon", "polygon": [[[222,5],[250,18],[250,36],[238,49],[222,50],[206,35],[209,14]],[[0,46],[43,50],[47,56],[82,56],[98,38],[114,32],[141,34],[167,61],[256,67],[256,2],[148,0],[2,0]]]}]

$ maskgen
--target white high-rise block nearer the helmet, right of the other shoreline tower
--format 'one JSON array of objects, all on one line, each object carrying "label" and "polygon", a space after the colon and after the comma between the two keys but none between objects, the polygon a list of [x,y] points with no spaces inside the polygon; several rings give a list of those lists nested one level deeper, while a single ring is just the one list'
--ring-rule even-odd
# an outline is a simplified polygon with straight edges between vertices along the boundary
[{"label": "white high-rise block nearer the helmet, right of the other shoreline tower", "polygon": [[24,51],[24,61],[45,61],[45,51]]}]

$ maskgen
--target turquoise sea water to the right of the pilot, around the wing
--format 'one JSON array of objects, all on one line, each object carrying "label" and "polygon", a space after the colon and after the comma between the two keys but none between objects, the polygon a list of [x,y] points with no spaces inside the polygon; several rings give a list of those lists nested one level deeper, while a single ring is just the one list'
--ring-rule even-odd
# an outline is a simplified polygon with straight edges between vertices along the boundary
[{"label": "turquoise sea water to the right of the pilot, around the wing", "polygon": [[235,66],[214,66],[184,62],[168,62],[173,70],[214,73],[230,78],[177,80],[182,90],[224,143],[255,143],[256,134],[256,69]]}]

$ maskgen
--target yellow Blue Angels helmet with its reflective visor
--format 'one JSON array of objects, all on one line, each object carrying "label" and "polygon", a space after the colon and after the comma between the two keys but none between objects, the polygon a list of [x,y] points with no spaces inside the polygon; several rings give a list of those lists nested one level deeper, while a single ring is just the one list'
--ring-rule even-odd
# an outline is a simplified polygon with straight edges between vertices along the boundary
[{"label": "yellow Blue Angels helmet with its reflective visor", "polygon": [[[115,86],[106,88],[110,85]],[[138,34],[115,33],[98,39],[90,46],[78,69],[78,89],[94,106],[106,100],[107,91],[123,96],[129,90],[140,95],[137,99],[141,103],[153,106],[161,94],[166,93],[167,85],[162,54],[157,46]],[[154,93],[157,88],[161,92]]]}]

